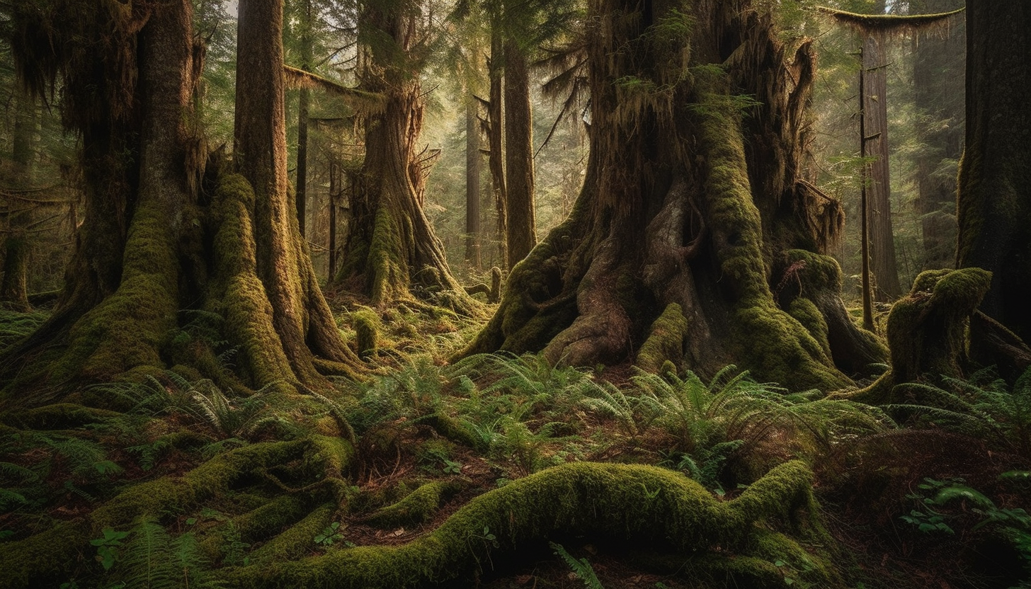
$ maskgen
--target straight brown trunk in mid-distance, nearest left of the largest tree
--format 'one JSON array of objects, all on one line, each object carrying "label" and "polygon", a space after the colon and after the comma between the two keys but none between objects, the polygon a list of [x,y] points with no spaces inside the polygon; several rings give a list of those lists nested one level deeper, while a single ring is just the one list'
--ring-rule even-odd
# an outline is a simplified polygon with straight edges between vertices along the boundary
[{"label": "straight brown trunk in mid-distance, nearest left of the largest tree", "polygon": [[537,243],[533,204],[533,122],[526,53],[514,40],[504,43],[505,196],[508,269]]}]

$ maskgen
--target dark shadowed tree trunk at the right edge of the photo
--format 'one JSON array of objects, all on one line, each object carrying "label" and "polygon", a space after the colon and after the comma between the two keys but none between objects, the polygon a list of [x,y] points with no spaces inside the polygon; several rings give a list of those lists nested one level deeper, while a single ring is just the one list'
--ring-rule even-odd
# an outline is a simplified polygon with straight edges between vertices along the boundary
[{"label": "dark shadowed tree trunk at the right edge of the photo", "polygon": [[957,265],[992,272],[980,304],[1031,337],[1031,6],[967,3],[966,151],[959,173]]}]

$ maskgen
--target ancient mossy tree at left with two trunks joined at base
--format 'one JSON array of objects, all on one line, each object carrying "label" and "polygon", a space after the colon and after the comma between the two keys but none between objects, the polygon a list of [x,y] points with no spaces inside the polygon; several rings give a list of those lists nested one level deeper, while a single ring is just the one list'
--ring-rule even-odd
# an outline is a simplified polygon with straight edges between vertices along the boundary
[{"label": "ancient mossy tree at left with two trunks joined at base", "polygon": [[[189,0],[20,6],[20,73],[37,94],[60,76],[87,199],[57,310],[4,352],[5,380],[60,392],[176,366],[239,390],[350,371],[287,191],[281,46],[270,41],[280,10],[240,12],[237,175],[204,171],[193,116],[204,52]],[[222,347],[238,351],[234,370]]]}]

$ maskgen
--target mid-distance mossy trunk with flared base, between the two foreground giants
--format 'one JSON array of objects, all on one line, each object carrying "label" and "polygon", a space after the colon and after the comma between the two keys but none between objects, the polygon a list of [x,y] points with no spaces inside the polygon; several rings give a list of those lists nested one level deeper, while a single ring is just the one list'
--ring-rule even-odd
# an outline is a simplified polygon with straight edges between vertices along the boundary
[{"label": "mid-distance mossy trunk with flared base, between the two foreground giants", "polygon": [[360,37],[368,57],[362,86],[384,96],[384,106],[365,120],[365,161],[338,276],[376,305],[432,300],[450,291],[451,303],[464,307],[469,299],[423,210],[424,170],[415,148],[423,126],[419,72],[426,32],[417,8],[408,2],[363,7]]}]

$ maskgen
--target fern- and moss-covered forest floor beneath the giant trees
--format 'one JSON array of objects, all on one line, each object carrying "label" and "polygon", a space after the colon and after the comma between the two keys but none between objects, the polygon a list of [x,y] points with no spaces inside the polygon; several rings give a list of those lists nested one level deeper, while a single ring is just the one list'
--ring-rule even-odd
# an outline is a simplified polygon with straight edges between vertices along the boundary
[{"label": "fern- and moss-covered forest floor beneath the giant trees", "polygon": [[[353,339],[362,305],[333,304]],[[693,480],[699,500],[732,506],[792,460],[812,473],[808,526],[771,512],[743,524],[752,539],[685,552],[662,534],[619,533],[634,524],[617,510],[517,542],[514,520],[534,514],[512,502],[512,530],[465,532],[468,569],[411,583],[1031,587],[1031,375],[909,385],[912,403],[872,407],[788,394],[732,366],[702,379],[534,355],[452,362],[481,320],[403,304],[376,315],[365,380],[334,391],[244,397],[165,371],[0,413],[0,587],[348,586],[333,569],[348,551],[437,542],[445,522],[485,497],[518,501],[548,469],[655,466],[642,472]],[[0,313],[0,348],[44,318]],[[647,485],[642,500],[660,500]],[[789,539],[755,539],[770,533]]]}]

